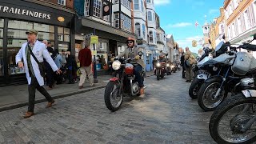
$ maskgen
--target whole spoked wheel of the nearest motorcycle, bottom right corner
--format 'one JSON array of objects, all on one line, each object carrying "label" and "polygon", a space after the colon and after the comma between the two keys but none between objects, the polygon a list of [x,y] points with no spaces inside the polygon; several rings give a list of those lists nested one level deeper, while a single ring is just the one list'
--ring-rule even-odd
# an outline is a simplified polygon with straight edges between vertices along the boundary
[{"label": "whole spoked wheel of the nearest motorcycle, bottom right corner", "polygon": [[256,141],[256,122],[249,130],[242,127],[255,117],[256,98],[245,98],[243,94],[226,99],[210,118],[210,136],[218,143],[252,143]]}]

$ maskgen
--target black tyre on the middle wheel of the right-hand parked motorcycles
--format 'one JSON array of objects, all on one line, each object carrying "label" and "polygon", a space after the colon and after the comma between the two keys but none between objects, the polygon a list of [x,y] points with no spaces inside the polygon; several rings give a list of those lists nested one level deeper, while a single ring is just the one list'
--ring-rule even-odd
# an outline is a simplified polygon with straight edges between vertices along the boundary
[{"label": "black tyre on the middle wheel of the right-hand parked motorcycles", "polygon": [[[226,97],[226,94],[223,94],[217,103],[216,102],[213,103],[214,106],[206,106],[206,103],[204,102],[203,99],[205,98],[206,90],[209,90],[209,87],[213,84],[218,84],[218,86],[221,86],[220,82],[208,82],[208,83],[203,82],[202,86],[198,91],[198,105],[202,108],[202,110],[205,110],[205,111],[215,110],[223,102],[224,98]],[[224,91],[221,91],[220,94],[222,94],[222,92]]]}]

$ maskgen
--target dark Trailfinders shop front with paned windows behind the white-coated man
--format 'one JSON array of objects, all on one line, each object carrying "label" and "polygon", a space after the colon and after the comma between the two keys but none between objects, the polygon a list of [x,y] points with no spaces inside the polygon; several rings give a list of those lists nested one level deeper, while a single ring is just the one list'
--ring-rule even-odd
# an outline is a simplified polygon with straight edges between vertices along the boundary
[{"label": "dark Trailfinders shop front with paned windows behind the white-coated man", "polygon": [[74,30],[71,29],[73,18],[73,13],[33,2],[1,2],[0,86],[26,83],[24,70],[15,63],[18,50],[22,43],[27,42],[26,30],[38,30],[38,41],[48,40],[54,49],[68,50],[74,43]]}]

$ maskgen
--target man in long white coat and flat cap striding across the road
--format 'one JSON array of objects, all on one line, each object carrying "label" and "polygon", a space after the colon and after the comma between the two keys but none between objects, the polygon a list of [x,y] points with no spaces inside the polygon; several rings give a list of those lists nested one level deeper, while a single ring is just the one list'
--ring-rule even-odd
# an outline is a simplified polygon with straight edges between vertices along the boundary
[{"label": "man in long white coat and flat cap striding across the road", "polygon": [[[37,40],[38,31],[37,30],[28,30],[26,31],[28,42],[22,44],[22,48],[18,51],[16,55],[16,63],[18,67],[25,67],[26,79],[28,82],[29,90],[29,107],[26,114],[23,118],[30,118],[34,115],[34,101],[35,101],[35,90],[37,89],[42,95],[46,97],[48,104],[46,107],[51,107],[54,104],[54,99],[50,94],[42,87],[44,85],[44,79],[40,74],[40,69],[38,62],[43,62],[43,58],[46,59],[51,66],[51,68],[57,73],[60,74],[62,71],[58,69],[54,60],[50,57],[46,45]],[[34,59],[30,50],[34,54],[35,58],[38,59],[38,62]],[[23,62],[22,62],[23,59]]]}]

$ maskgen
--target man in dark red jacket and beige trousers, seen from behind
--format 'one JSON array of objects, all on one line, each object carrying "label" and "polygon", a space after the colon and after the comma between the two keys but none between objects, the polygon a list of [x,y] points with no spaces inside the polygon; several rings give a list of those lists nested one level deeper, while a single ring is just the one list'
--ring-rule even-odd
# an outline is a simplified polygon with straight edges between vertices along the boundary
[{"label": "man in dark red jacket and beige trousers, seen from behind", "polygon": [[89,77],[90,86],[94,86],[94,78],[91,71],[91,62],[92,56],[90,51],[90,45],[86,45],[84,49],[79,51],[78,59],[80,62],[80,82],[79,82],[79,89],[83,88],[83,83],[86,80],[86,75]]}]

